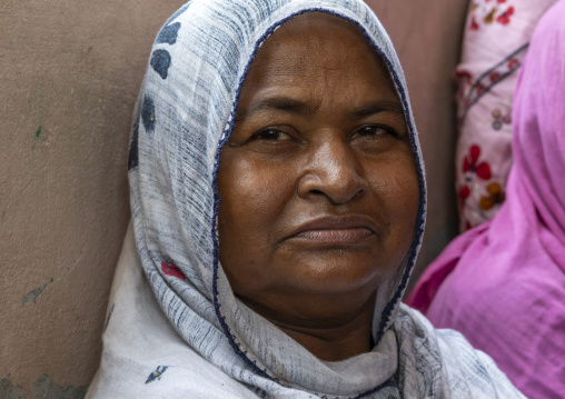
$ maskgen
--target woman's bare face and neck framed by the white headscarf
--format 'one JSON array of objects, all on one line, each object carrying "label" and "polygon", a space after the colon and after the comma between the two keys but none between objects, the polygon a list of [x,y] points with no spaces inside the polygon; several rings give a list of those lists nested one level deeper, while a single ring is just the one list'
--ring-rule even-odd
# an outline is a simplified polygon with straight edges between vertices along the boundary
[{"label": "woman's bare face and neck framed by the white headscarf", "polygon": [[354,24],[306,13],[267,39],[218,191],[235,295],[323,360],[369,351],[376,293],[410,247],[419,186],[402,103]]}]

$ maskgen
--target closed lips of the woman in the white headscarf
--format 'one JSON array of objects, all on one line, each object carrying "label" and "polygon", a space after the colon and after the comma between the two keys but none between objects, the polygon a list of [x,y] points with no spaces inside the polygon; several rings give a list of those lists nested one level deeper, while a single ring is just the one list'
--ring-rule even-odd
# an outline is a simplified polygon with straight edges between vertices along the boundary
[{"label": "closed lips of the woman in the white headscarf", "polygon": [[375,225],[364,217],[323,217],[303,223],[289,239],[313,245],[355,245],[366,242],[375,233]]}]

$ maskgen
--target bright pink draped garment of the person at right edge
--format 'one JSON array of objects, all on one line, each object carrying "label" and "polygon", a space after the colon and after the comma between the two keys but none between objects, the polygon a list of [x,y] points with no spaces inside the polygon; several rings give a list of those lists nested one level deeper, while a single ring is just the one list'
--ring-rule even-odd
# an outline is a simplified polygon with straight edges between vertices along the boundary
[{"label": "bright pink draped garment of the person at right edge", "polygon": [[455,239],[407,300],[490,355],[528,398],[565,398],[564,21],[561,0],[518,78],[506,202]]}]

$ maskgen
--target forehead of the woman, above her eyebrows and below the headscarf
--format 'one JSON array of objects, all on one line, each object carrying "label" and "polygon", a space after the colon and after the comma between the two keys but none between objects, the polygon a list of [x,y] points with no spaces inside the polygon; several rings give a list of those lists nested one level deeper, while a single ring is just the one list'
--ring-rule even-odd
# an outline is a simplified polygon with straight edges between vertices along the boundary
[{"label": "forehead of the woman, above her eyebrows and below the headscarf", "polygon": [[295,17],[261,46],[241,88],[238,120],[256,101],[282,94],[314,108],[339,98],[350,107],[386,101],[402,109],[388,69],[359,28],[323,12]]}]

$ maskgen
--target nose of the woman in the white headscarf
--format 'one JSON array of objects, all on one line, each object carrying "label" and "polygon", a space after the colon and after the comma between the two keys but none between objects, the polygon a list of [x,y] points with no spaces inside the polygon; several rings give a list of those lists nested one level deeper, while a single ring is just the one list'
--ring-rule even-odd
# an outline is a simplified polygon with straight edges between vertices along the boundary
[{"label": "nose of the woman in the white headscarf", "polygon": [[368,182],[354,150],[343,139],[327,140],[309,151],[298,181],[298,196],[326,196],[341,205],[367,191]]}]

